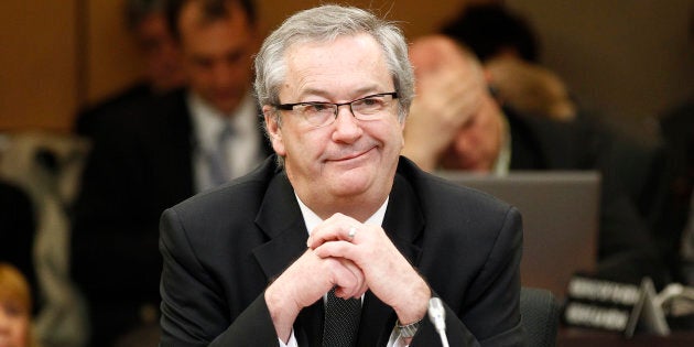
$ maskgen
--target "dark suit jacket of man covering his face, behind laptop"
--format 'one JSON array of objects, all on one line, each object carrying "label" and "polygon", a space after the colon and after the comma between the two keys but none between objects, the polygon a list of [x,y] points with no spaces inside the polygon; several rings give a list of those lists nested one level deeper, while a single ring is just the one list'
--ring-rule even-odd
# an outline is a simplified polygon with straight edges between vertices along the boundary
[{"label": "dark suit jacket of man covering his face, behind laptop", "polygon": [[[597,275],[659,288],[669,281],[658,230],[649,214],[659,208],[657,153],[632,144],[603,124],[556,122],[505,109],[511,132],[511,170],[597,170],[600,219]],[[638,177],[638,178],[637,178]],[[651,189],[648,194],[646,189]],[[647,207],[648,205],[648,207]]]}]

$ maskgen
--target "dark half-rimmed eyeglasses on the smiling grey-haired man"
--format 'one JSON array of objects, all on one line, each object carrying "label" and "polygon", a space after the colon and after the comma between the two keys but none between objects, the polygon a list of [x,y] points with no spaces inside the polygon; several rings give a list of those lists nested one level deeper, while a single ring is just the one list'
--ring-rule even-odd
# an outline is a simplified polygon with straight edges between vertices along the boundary
[{"label": "dark half-rimmed eyeglasses on the smiling grey-haired man", "polygon": [[359,120],[376,120],[381,118],[393,99],[398,98],[398,91],[379,93],[356,100],[341,104],[333,102],[296,102],[274,105],[276,109],[293,111],[303,117],[310,124],[319,128],[332,124],[337,119],[340,106],[349,105],[351,115]]}]

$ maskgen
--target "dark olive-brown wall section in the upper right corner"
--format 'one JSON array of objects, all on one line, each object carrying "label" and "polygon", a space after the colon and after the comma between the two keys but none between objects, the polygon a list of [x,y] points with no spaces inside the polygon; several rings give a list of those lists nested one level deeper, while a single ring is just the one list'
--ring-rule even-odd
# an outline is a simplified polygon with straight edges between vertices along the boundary
[{"label": "dark olive-brown wall section in the upper right corner", "polygon": [[536,29],[543,63],[603,117],[628,126],[694,97],[693,0],[506,2]]}]

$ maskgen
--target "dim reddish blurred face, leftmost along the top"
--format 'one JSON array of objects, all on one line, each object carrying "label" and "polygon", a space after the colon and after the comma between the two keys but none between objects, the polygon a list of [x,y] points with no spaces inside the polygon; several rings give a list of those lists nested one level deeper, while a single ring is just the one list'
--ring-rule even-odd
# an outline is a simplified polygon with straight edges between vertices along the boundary
[{"label": "dim reddish blurred face, leftmost along the top", "polygon": [[135,40],[144,59],[145,75],[155,91],[166,91],[185,83],[181,56],[166,28],[163,13],[148,15],[135,28]]}]

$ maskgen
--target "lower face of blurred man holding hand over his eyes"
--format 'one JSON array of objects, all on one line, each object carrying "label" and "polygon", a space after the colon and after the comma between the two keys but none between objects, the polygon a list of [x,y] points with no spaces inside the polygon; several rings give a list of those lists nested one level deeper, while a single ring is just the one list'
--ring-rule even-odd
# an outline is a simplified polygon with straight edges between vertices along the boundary
[{"label": "lower face of blurred man holding hand over his eyes", "polygon": [[442,164],[451,170],[490,172],[501,152],[503,122],[501,110],[489,94],[476,112],[460,127]]}]

